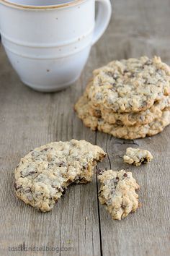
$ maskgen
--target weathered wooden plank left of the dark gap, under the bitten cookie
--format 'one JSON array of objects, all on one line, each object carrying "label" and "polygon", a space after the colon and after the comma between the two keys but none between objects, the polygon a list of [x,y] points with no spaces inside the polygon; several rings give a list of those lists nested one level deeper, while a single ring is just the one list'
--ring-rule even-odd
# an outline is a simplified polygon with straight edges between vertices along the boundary
[{"label": "weathered wooden plank left of the dark gap, under the bitten cookie", "polygon": [[[14,168],[19,159],[38,145],[55,140],[85,139],[95,142],[95,132],[84,129],[73,103],[86,84],[89,62],[81,80],[61,93],[37,93],[19,82],[0,52],[0,252],[8,247],[48,245],[73,247],[60,255],[100,255],[97,186],[72,186],[51,213],[38,213],[14,195]],[[48,254],[48,252],[47,252]],[[55,255],[53,252],[52,255]],[[12,252],[18,255],[18,252]],[[30,253],[34,255],[34,252]],[[39,255],[42,255],[39,252]],[[46,255],[46,253],[44,253]]]}]

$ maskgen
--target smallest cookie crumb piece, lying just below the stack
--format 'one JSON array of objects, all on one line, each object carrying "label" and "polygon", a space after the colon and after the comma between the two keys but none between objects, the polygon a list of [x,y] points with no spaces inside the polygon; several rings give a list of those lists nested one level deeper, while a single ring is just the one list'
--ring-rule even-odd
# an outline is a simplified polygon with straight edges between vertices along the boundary
[{"label": "smallest cookie crumb piece, lying just below the stack", "polygon": [[123,160],[125,163],[133,164],[133,166],[140,166],[142,163],[151,162],[153,160],[153,155],[148,150],[127,148]]}]

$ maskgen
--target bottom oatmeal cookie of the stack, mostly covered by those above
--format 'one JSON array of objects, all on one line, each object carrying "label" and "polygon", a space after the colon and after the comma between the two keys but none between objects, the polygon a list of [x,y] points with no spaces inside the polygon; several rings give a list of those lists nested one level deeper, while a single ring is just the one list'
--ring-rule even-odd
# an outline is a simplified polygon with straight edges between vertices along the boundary
[{"label": "bottom oatmeal cookie of the stack, mostly covered by those above", "polygon": [[75,110],[79,118],[84,122],[86,127],[92,130],[108,133],[114,137],[134,140],[140,137],[153,136],[162,132],[163,129],[170,124],[170,111],[162,111],[160,118],[154,119],[150,124],[140,126],[125,126],[118,124],[109,124],[102,118],[91,116],[89,114],[89,99],[82,96],[76,103]]}]

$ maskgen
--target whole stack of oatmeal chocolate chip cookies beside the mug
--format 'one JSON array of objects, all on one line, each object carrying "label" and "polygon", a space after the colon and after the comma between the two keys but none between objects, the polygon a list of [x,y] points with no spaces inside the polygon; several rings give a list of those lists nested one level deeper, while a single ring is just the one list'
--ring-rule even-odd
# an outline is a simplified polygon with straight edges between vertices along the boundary
[{"label": "whole stack of oatmeal chocolate chip cookies beside the mug", "polygon": [[161,58],[112,61],[96,69],[75,110],[86,127],[133,140],[170,124],[170,67]]}]

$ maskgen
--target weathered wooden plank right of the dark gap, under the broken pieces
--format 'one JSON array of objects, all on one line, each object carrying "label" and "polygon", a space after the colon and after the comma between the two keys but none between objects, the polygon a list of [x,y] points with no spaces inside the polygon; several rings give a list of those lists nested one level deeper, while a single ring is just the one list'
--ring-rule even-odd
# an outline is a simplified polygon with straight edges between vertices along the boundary
[{"label": "weathered wooden plank right of the dark gap, under the broken pieces", "polygon": [[[105,62],[111,59],[158,54],[170,64],[169,1],[115,1],[115,19],[100,41]],[[112,43],[111,43],[112,42]],[[114,50],[115,49],[115,50]],[[102,61],[102,56],[97,55]],[[155,137],[127,141],[97,133],[97,145],[108,153],[102,168],[128,168],[140,184],[142,208],[123,221],[112,221],[99,205],[102,255],[169,255],[169,136],[170,128]],[[120,158],[126,148],[151,150],[154,161],[147,166],[130,167]],[[99,184],[98,184],[99,185]]]}]

